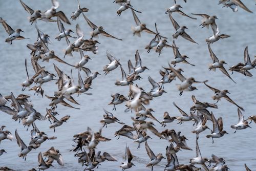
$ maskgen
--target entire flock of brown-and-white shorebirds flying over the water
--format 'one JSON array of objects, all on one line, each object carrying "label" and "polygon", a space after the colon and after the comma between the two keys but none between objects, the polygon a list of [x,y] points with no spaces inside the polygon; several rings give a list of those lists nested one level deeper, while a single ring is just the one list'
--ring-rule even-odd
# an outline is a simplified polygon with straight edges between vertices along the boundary
[{"label": "entire flock of brown-and-white shorebirds flying over the water", "polygon": [[[82,8],[78,2],[78,8],[73,14],[71,15],[70,19],[76,20],[80,16],[84,19],[87,24],[91,27],[92,32],[90,37],[86,39],[84,37],[84,33],[82,32],[79,24],[75,26],[76,36],[72,35],[74,33],[71,29],[66,30],[63,23],[71,24],[68,17],[62,11],[57,11],[59,7],[59,2],[57,0],[52,0],[52,7],[46,11],[41,10],[33,10],[26,5],[22,0],[19,0],[22,7],[29,13],[29,22],[35,25],[35,29],[37,32],[37,38],[35,39],[34,44],[28,44],[27,48],[31,50],[31,65],[34,69],[34,73],[28,73],[27,70],[27,59],[25,60],[25,68],[27,73],[26,80],[22,83],[22,91],[26,89],[29,91],[34,91],[35,94],[40,94],[44,97],[44,90],[43,86],[47,84],[49,81],[56,80],[56,84],[58,86],[58,91],[52,92],[51,96],[45,95],[48,99],[50,99],[49,108],[46,109],[46,116],[41,115],[36,109],[33,108],[33,104],[30,101],[30,96],[25,94],[15,95],[15,93],[10,93],[10,95],[3,96],[0,94],[0,110],[4,113],[12,115],[12,119],[17,121],[20,124],[23,124],[24,127],[27,127],[27,131],[31,128],[31,140],[29,144],[25,144],[22,138],[20,138],[18,134],[18,130],[15,131],[15,135],[11,132],[6,130],[6,126],[2,126],[0,129],[0,142],[11,140],[16,141],[18,146],[21,148],[18,157],[24,158],[26,161],[26,157],[29,156],[29,152],[33,149],[37,149],[40,147],[42,143],[47,140],[54,140],[57,137],[49,137],[43,131],[39,131],[35,121],[36,120],[49,120],[50,126],[49,129],[57,129],[58,126],[61,126],[64,122],[67,122],[71,116],[67,115],[62,118],[58,117],[57,105],[64,105],[69,108],[75,108],[73,105],[68,103],[65,100],[68,100],[71,103],[79,104],[72,95],[77,94],[77,96],[82,96],[83,94],[91,95],[90,89],[92,87],[93,80],[100,74],[100,72],[92,72],[89,68],[85,67],[86,63],[91,59],[89,55],[84,55],[84,52],[94,53],[98,52],[97,44],[100,44],[95,38],[98,38],[99,35],[103,35],[106,37],[114,38],[117,40],[122,40],[117,38],[103,29],[102,26],[96,26],[93,22],[84,14],[89,11],[87,8]],[[184,2],[186,2],[184,0]],[[145,47],[147,53],[155,51],[158,53],[158,56],[162,53],[163,48],[172,48],[174,52],[175,59],[168,63],[168,66],[164,67],[163,70],[160,70],[160,75],[162,79],[160,81],[154,80],[152,77],[148,76],[148,81],[152,85],[152,89],[150,92],[145,92],[142,87],[137,86],[135,81],[140,80],[140,73],[146,71],[148,68],[146,66],[142,66],[142,61],[140,58],[139,51],[136,51],[135,54],[135,67],[131,60],[128,60],[128,67],[129,73],[126,74],[124,69],[122,68],[121,62],[119,59],[116,59],[109,51],[106,51],[106,57],[110,60],[110,63],[103,67],[103,72],[105,75],[111,73],[111,71],[117,69],[118,67],[121,70],[122,78],[121,80],[117,80],[115,82],[116,86],[126,86],[129,88],[129,93],[127,96],[121,94],[114,94],[112,96],[112,101],[109,105],[113,105],[113,110],[116,110],[116,105],[125,104],[126,110],[125,112],[132,112],[134,117],[132,117],[133,125],[126,125],[125,123],[121,122],[117,117],[115,117],[111,112],[104,110],[103,119],[100,120],[102,123],[102,127],[98,132],[93,131],[90,127],[86,130],[86,132],[78,133],[74,135],[74,143],[73,151],[75,153],[75,157],[77,157],[78,162],[82,164],[84,170],[93,170],[98,168],[100,163],[108,160],[108,161],[117,161],[117,159],[112,156],[111,154],[104,152],[101,155],[101,152],[97,149],[96,146],[99,142],[102,141],[110,141],[111,139],[106,138],[102,135],[102,129],[106,129],[109,124],[117,122],[122,124],[123,126],[120,130],[115,132],[115,136],[120,138],[120,136],[126,137],[127,141],[131,140],[138,143],[138,148],[141,148],[141,144],[145,144],[145,149],[147,155],[149,157],[149,162],[146,167],[151,167],[152,170],[154,166],[160,163],[163,159],[167,160],[167,164],[164,170],[228,170],[228,166],[225,165],[225,160],[221,157],[217,157],[212,154],[212,158],[208,159],[202,156],[200,152],[200,148],[198,145],[199,135],[201,132],[205,131],[206,129],[211,130],[211,133],[206,136],[206,138],[211,138],[212,143],[214,143],[215,138],[221,138],[225,134],[228,134],[224,131],[223,126],[223,119],[222,117],[216,118],[216,116],[209,112],[208,109],[215,108],[217,109],[217,102],[221,99],[226,99],[233,105],[236,105],[238,108],[238,123],[231,125],[231,128],[234,129],[234,133],[237,130],[243,130],[247,127],[250,127],[248,120],[254,121],[256,123],[256,116],[250,116],[247,119],[244,118],[241,111],[244,109],[234,102],[229,96],[228,90],[218,90],[217,88],[211,87],[207,82],[195,80],[193,77],[185,77],[183,76],[183,70],[181,68],[176,69],[177,63],[183,62],[187,65],[195,66],[194,64],[190,63],[191,61],[187,61],[188,57],[186,55],[181,55],[179,52],[179,48],[175,44],[175,40],[173,40],[172,45],[168,45],[167,38],[160,35],[157,30],[157,24],[155,24],[155,31],[152,31],[146,27],[146,24],[140,22],[137,14],[141,13],[135,7],[131,5],[130,0],[115,0],[113,3],[120,5],[120,8],[117,11],[117,15],[120,16],[124,11],[131,11],[136,23],[136,26],[132,27],[132,32],[134,36],[140,36],[142,31],[150,33],[148,35],[153,36],[153,39],[149,42],[149,44]],[[240,0],[220,0],[219,4],[224,5],[224,7],[231,8],[233,12],[238,11],[238,7],[241,7],[247,12],[251,11],[240,1]],[[166,9],[166,14],[168,14],[170,18],[170,22],[172,22],[174,26],[174,33],[173,39],[177,39],[178,37],[183,37],[188,41],[191,41],[195,44],[197,42],[191,38],[186,32],[186,26],[180,26],[176,20],[173,18],[173,13],[179,13],[188,19],[197,19],[196,17],[202,17],[202,22],[200,26],[202,28],[211,27],[213,31],[213,35],[206,39],[206,43],[208,44],[208,50],[210,58],[212,59],[212,63],[209,64],[210,71],[216,71],[219,69],[226,77],[231,79],[234,83],[236,83],[227,72],[224,67],[226,62],[224,60],[219,60],[215,53],[212,51],[211,46],[216,41],[222,38],[228,38],[229,35],[220,34],[220,30],[216,24],[217,16],[210,16],[207,14],[195,14],[192,13],[190,15],[181,11],[182,7],[176,4],[174,0],[174,5]],[[185,10],[184,10],[185,11]],[[56,56],[54,50],[48,48],[48,44],[50,44],[50,36],[43,31],[39,30],[36,26],[36,22],[38,20],[44,22],[56,22],[59,30],[59,35],[55,38],[57,40],[66,39],[67,41],[67,48],[62,57]],[[5,31],[9,34],[6,38],[6,42],[12,44],[14,40],[25,39],[21,32],[22,29],[13,30],[11,26],[7,24],[7,21],[1,17],[0,20],[1,24],[3,25]],[[63,22],[63,23],[62,23]],[[70,39],[74,39],[71,41]],[[16,43],[16,42],[15,42]],[[81,59],[75,65],[72,65],[65,61],[66,56],[73,56],[73,53],[79,53]],[[57,66],[57,63],[53,63],[54,69],[56,73],[50,73],[47,71],[46,67],[41,67],[39,65],[43,62],[51,62],[56,60],[57,62],[65,63],[68,66],[71,66],[75,72],[78,73],[78,81],[73,79],[72,70],[71,73],[64,73],[61,69]],[[230,67],[228,70],[232,73],[238,72],[243,74],[244,76],[252,77],[252,74],[249,70],[254,69],[256,66],[256,59],[253,61],[250,60],[248,54],[248,47],[244,50],[244,62],[240,62],[237,65]],[[77,69],[77,70],[76,70]],[[86,78],[83,80],[81,76],[81,72],[86,73]],[[189,75],[189,74],[186,74]],[[179,110],[181,116],[171,117],[167,112],[164,113],[163,120],[157,120],[154,115],[152,114],[154,110],[152,108],[146,108],[145,106],[150,104],[150,102],[159,96],[162,96],[163,93],[166,93],[164,90],[164,84],[170,83],[173,80],[178,78],[180,80],[180,84],[177,84],[178,91],[180,92],[180,96],[186,91],[194,91],[197,90],[194,87],[194,83],[203,83],[207,88],[213,91],[212,99],[216,100],[216,103],[208,103],[208,102],[201,102],[193,95],[191,99],[193,100],[194,104],[190,108],[190,113],[185,113],[176,103],[173,103],[174,106]],[[34,85],[32,87],[32,85]],[[30,88],[32,87],[32,88]],[[3,93],[3,92],[2,92]],[[6,93],[5,93],[6,94]],[[197,112],[197,113],[196,113]],[[73,117],[73,116],[72,116]],[[181,135],[181,132],[177,132],[175,130],[165,130],[159,132],[155,128],[155,124],[153,121],[149,121],[152,119],[163,127],[167,126],[167,123],[173,122],[174,120],[179,121],[178,123],[182,124],[183,122],[190,121],[191,123],[194,122],[195,129],[192,131],[195,134],[196,138],[196,157],[190,159],[189,164],[181,164],[178,160],[177,153],[181,151],[181,149],[192,150],[190,147],[187,146],[186,140],[187,138],[184,135]],[[206,125],[206,123],[208,123]],[[65,123],[64,123],[65,124]],[[211,127],[212,125],[212,127]],[[212,128],[212,129],[211,129]],[[166,154],[157,154],[155,155],[152,149],[150,148],[150,142],[148,143],[147,140],[151,139],[152,137],[148,136],[146,131],[151,131],[155,138],[160,138],[159,141],[169,141],[169,145],[166,147]],[[8,149],[1,149],[0,156],[7,153]],[[126,145],[125,147],[125,158],[124,161],[121,163],[120,167],[122,170],[129,169],[131,167],[136,167],[133,161],[133,155],[129,146]],[[165,157],[166,156],[166,157]],[[45,157],[45,158],[44,158]],[[53,162],[57,161],[57,163],[61,166],[64,165],[64,161],[62,158],[61,153],[55,147],[51,147],[47,152],[38,153],[38,169],[45,170],[53,166]],[[206,165],[208,163],[208,165]],[[214,165],[211,165],[214,163]],[[56,166],[55,166],[56,167]],[[245,164],[246,170],[250,170]],[[13,170],[8,167],[1,167],[0,170]],[[36,170],[32,168],[30,170]]]}]

